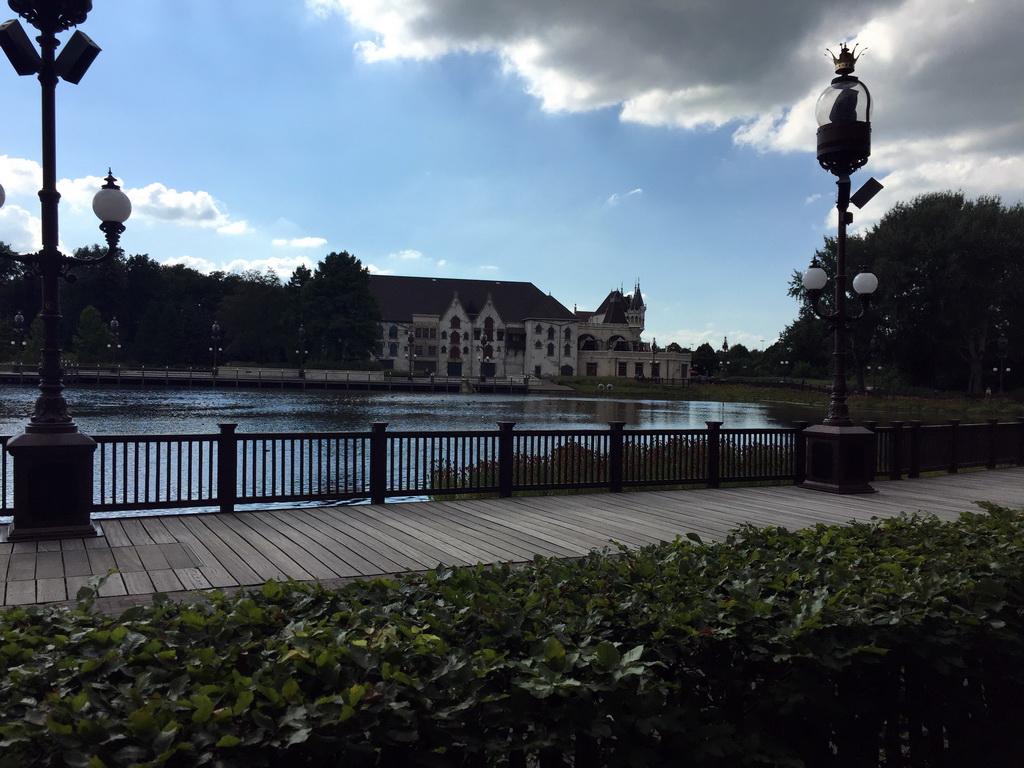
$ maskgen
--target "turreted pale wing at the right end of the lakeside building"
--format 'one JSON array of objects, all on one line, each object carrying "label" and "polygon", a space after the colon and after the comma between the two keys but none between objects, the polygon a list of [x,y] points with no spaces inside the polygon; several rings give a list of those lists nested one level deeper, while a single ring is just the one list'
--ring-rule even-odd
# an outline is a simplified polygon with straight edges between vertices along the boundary
[{"label": "turreted pale wing at the right end of the lakeside building", "polygon": [[580,373],[585,376],[680,380],[689,377],[690,353],[657,349],[641,339],[647,305],[640,284],[630,295],[612,291],[580,319]]}]

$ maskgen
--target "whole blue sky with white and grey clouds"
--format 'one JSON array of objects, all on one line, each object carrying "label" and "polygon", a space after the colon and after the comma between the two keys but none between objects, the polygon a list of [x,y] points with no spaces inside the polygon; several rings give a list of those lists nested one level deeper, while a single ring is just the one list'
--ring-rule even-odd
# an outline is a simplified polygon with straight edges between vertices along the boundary
[{"label": "whole blue sky with white and grey clouds", "polygon": [[[639,284],[658,346],[761,349],[836,232],[814,103],[844,42],[873,99],[853,188],[885,185],[854,231],[932,191],[1024,198],[1020,0],[94,0],[80,29],[102,52],[57,87],[69,252],[102,241],[112,168],[122,248],[160,263],[287,281],[348,251],[581,310]],[[0,66],[24,253],[39,90]]]}]

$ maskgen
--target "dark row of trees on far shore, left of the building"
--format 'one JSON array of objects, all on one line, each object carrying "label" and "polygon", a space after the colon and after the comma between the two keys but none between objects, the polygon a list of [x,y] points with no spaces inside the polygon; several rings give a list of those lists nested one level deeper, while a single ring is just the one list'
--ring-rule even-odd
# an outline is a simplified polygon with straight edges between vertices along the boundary
[{"label": "dark row of trees on far shore, left of the building", "polygon": [[[4,252],[10,249],[0,244]],[[76,255],[103,252],[93,246]],[[204,274],[123,254],[76,269],[74,278],[73,287],[61,286],[61,350],[79,365],[206,368],[217,347],[220,361],[353,368],[366,365],[378,342],[369,271],[347,252],[328,254],[314,269],[299,266],[287,282],[272,271]],[[38,280],[0,258],[0,322],[10,357],[26,365],[39,359],[39,303]],[[24,335],[14,324],[18,313]]]}]

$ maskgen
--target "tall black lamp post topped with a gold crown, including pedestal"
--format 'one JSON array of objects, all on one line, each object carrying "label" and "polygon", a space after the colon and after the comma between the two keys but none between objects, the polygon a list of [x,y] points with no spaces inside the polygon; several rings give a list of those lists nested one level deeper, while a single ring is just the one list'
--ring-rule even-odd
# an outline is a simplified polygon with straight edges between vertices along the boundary
[{"label": "tall black lamp post topped with a gold crown, including pedestal", "polygon": [[827,275],[817,261],[804,272],[814,313],[833,329],[834,364],[831,399],[828,415],[819,424],[805,430],[807,467],[804,487],[834,494],[867,494],[874,490],[874,433],[858,426],[850,418],[846,397],[846,355],[852,323],[860,317],[879,281],[868,271],[853,279],[853,290],[861,304],[856,312],[847,308],[846,227],[853,221],[850,203],[860,208],[882,188],[869,179],[855,195],[850,195],[850,174],[863,166],[871,154],[871,96],[853,75],[857,56],[844,43],[834,55],[836,78],[818,97],[815,116],[818,121],[818,163],[837,177],[839,187],[839,233],[836,238],[836,274],[831,306],[819,304]]}]

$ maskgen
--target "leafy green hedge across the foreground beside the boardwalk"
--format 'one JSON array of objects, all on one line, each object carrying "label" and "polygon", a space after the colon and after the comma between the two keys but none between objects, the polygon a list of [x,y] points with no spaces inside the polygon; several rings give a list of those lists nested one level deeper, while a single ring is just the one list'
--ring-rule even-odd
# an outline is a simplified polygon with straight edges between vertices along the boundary
[{"label": "leafy green hedge across the foreground beside the boardwalk", "polygon": [[1019,765],[1024,513],[986,509],[12,608],[0,766]]}]

